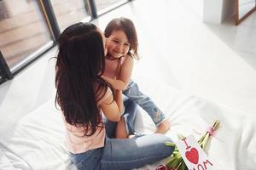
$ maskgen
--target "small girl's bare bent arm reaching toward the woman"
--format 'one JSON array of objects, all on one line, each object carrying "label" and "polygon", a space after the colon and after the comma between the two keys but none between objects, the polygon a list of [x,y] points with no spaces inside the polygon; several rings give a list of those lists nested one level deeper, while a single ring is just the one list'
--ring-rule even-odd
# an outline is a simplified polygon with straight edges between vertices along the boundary
[{"label": "small girl's bare bent arm reaching toward the woman", "polygon": [[128,85],[128,82],[131,79],[131,72],[133,69],[133,58],[131,55],[126,55],[123,65],[120,68],[119,76],[117,79],[110,77],[102,76],[107,82],[109,82],[114,89],[125,90]]}]

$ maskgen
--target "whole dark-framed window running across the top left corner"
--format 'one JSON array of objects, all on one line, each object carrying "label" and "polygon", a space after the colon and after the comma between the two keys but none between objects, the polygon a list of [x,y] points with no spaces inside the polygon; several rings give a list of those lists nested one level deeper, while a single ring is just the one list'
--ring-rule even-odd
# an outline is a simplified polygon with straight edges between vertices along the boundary
[{"label": "whole dark-framed window running across the top left corner", "polygon": [[95,19],[128,1],[0,0],[0,84],[53,47],[67,26]]}]

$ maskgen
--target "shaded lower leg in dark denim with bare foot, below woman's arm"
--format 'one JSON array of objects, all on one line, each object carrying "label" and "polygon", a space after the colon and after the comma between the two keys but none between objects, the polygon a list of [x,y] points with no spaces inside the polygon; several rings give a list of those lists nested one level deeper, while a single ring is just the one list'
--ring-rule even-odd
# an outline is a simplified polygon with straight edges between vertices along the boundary
[{"label": "shaded lower leg in dark denim with bare foot, below woman's arm", "polygon": [[130,99],[124,99],[125,113],[121,117],[121,121],[117,123],[115,137],[117,139],[125,139],[129,134],[134,133],[134,119],[137,114],[137,104]]}]

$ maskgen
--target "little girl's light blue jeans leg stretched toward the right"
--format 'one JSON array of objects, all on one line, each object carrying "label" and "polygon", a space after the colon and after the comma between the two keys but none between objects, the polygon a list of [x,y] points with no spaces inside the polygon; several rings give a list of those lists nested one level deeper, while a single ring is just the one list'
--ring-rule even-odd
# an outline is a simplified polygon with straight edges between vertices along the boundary
[{"label": "little girl's light blue jeans leg stretched toward the right", "polygon": [[128,87],[123,91],[123,94],[125,94],[127,98],[136,102],[137,105],[141,106],[143,110],[148,113],[156,126],[158,126],[166,118],[165,114],[160,111],[152,99],[139,90],[136,82],[130,80]]}]

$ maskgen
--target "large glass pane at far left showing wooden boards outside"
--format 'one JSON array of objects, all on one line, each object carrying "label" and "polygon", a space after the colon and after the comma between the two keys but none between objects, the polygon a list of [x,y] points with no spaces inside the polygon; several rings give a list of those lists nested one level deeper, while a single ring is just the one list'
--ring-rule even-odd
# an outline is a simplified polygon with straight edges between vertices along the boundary
[{"label": "large glass pane at far left showing wooden boards outside", "polygon": [[0,1],[0,50],[10,68],[51,39],[37,0]]}]

